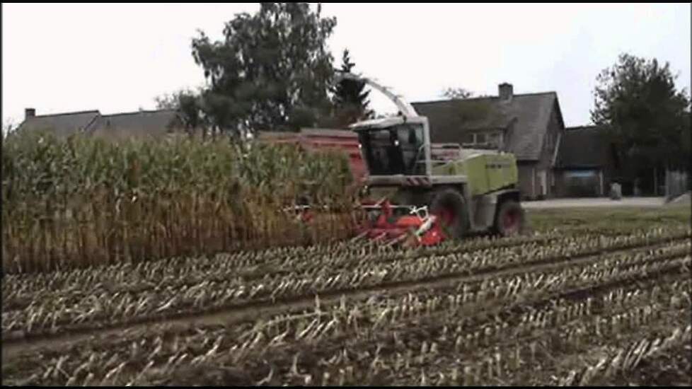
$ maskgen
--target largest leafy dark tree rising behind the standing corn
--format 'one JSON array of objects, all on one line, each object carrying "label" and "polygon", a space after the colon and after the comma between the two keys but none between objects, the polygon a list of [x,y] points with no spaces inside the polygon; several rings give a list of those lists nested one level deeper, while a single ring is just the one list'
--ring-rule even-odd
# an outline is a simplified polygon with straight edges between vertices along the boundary
[{"label": "largest leafy dark tree rising behind the standing corn", "polygon": [[261,3],[226,23],[224,39],[200,32],[192,56],[208,87],[202,109],[224,130],[288,130],[328,112],[333,58],[326,40],[336,25],[321,6]]}]

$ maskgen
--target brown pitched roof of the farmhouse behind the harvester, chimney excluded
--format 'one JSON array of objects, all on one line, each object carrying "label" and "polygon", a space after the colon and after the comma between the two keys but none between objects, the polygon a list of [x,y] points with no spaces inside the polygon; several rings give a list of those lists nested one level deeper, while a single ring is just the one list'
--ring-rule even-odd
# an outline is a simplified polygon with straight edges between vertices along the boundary
[{"label": "brown pitched roof of the farmhouse behind the harvester, chimney excluded", "polygon": [[511,128],[507,151],[524,161],[540,158],[553,108],[557,107],[561,120],[555,92],[515,94],[509,100],[497,96],[437,100],[413,103],[413,107],[428,118],[434,142],[462,143],[467,132]]}]

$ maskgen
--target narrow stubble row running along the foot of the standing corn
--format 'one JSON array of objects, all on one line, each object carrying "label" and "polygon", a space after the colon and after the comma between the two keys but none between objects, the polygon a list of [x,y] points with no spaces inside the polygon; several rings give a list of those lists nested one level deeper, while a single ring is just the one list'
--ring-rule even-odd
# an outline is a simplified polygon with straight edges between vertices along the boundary
[{"label": "narrow stubble row running along the foot of the standing corn", "polygon": [[[502,255],[533,256],[543,247],[584,246],[592,252],[616,250],[630,245],[655,245],[669,240],[688,238],[689,227],[649,228],[642,231],[600,237],[596,234],[570,234],[564,231],[507,239],[474,238],[461,242],[418,250],[393,250],[376,245],[340,242],[332,245],[270,248],[259,251],[233,252],[203,257],[174,257],[169,260],[118,263],[87,269],[57,270],[40,274],[7,274],[2,285],[3,303],[13,298],[25,300],[40,294],[71,292],[91,294],[99,289],[141,290],[162,284],[194,285],[199,281],[242,278],[257,279],[267,274],[324,274],[323,268],[348,269],[373,263],[415,260],[417,258],[455,255],[459,259],[498,257]],[[567,250],[567,249],[565,249]],[[524,262],[524,261],[522,261]]]}]

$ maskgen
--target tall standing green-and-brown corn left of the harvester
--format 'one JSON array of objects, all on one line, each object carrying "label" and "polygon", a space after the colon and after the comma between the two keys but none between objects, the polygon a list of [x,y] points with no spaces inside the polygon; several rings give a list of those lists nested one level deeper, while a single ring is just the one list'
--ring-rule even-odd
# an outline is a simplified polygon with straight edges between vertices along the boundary
[{"label": "tall standing green-and-brown corn left of the harvester", "polygon": [[304,195],[333,206],[349,200],[345,158],[292,146],[18,134],[4,140],[2,166],[6,273],[320,243],[348,232],[344,216],[304,227],[281,211]]}]

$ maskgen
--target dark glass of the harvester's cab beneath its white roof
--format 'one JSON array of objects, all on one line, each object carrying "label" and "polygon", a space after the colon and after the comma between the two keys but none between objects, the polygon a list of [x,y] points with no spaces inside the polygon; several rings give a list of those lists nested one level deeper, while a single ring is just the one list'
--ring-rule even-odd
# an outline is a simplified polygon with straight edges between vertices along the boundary
[{"label": "dark glass of the harvester's cab beneath its white roof", "polygon": [[424,175],[423,127],[399,124],[359,131],[370,175]]}]

